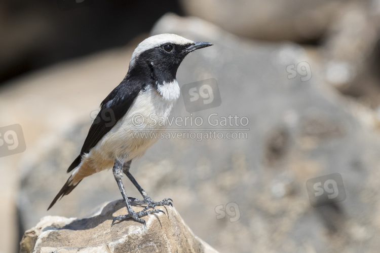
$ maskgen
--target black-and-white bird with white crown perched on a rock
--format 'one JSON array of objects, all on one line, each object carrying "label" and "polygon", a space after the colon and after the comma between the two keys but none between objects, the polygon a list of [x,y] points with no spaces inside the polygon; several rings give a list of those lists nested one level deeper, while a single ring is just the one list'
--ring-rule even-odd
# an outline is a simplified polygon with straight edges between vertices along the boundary
[{"label": "black-and-white bird with white crown perched on a rock", "polygon": [[[176,74],[180,63],[189,53],[209,46],[213,44],[169,33],[151,36],[138,44],[132,53],[126,76],[100,103],[99,113],[89,129],[81,152],[67,169],[67,173],[71,174],[48,210],[58,199],[77,187],[82,179],[109,169],[112,169],[128,211],[128,214],[113,219],[111,226],[116,221],[130,218],[145,226],[141,217],[163,212],[154,209],[156,206],[173,205],[170,198],[153,201],[130,173],[132,160],[141,157],[158,140],[136,133],[160,133],[165,130],[167,122],[158,124],[154,117],[168,119],[179,98]],[[107,113],[112,115],[113,120],[104,117]],[[136,115],[140,118],[138,124]],[[127,196],[122,182],[123,173],[140,192],[142,199]],[[130,201],[147,206],[135,212]]]}]

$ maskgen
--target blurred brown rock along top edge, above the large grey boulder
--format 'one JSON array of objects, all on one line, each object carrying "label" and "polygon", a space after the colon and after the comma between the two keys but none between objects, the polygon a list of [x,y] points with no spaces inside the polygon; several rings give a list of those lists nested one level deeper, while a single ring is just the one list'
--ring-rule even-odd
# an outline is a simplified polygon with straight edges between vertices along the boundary
[{"label": "blurred brown rock along top edge, above the large grey boulder", "polygon": [[[187,15],[198,16],[243,37],[310,42],[321,39],[344,9],[344,0],[260,1],[181,0]],[[350,1],[368,5],[370,1]]]}]

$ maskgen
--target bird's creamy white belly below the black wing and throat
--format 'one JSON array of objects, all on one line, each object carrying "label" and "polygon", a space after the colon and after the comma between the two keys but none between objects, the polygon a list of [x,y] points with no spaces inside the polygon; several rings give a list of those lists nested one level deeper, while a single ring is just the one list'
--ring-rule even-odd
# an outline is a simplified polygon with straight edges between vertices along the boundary
[{"label": "bird's creamy white belly below the black wing and throat", "polygon": [[89,155],[96,153],[103,156],[103,159],[118,159],[121,162],[142,156],[166,128],[176,100],[165,99],[154,88],[140,91],[127,114],[99,141]]}]

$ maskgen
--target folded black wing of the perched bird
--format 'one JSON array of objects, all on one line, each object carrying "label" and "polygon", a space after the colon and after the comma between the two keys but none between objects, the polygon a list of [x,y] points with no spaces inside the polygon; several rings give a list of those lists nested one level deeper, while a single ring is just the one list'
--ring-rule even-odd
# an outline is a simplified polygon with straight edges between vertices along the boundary
[{"label": "folded black wing of the perched bird", "polygon": [[100,104],[100,111],[92,123],[81,154],[71,163],[70,172],[81,163],[83,154],[90,152],[103,136],[128,112],[129,107],[144,87],[143,82],[123,80]]}]

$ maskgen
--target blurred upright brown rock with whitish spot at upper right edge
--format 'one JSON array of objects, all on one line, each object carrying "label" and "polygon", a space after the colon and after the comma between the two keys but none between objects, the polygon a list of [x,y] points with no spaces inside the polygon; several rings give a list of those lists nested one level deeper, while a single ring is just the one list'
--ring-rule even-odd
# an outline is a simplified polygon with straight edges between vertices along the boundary
[{"label": "blurred upright brown rock with whitish spot at upper right edge", "polygon": [[327,30],[320,50],[326,82],[373,109],[380,105],[379,21],[379,1],[351,3]]}]

